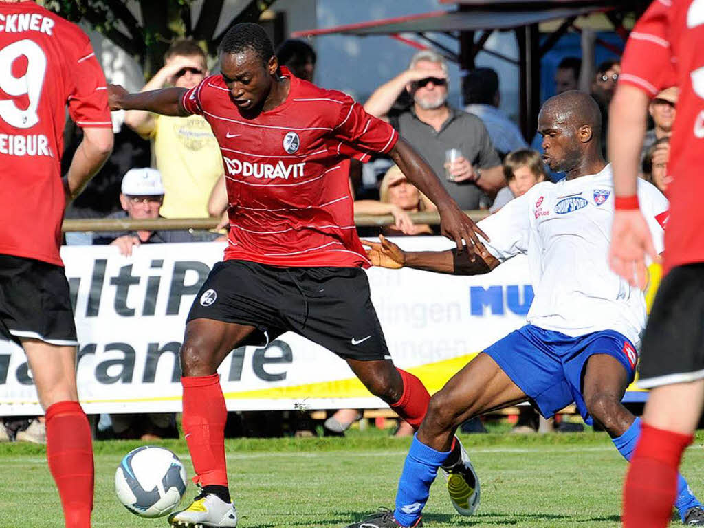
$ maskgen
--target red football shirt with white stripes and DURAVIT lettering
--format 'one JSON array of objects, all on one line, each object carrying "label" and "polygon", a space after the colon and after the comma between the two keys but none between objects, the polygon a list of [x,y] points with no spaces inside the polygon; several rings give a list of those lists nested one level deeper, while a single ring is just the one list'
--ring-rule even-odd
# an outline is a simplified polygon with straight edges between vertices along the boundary
[{"label": "red football shirt with white stripes and DURAVIT lettering", "polygon": [[282,104],[246,119],[222,75],[184,94],[218,139],[230,201],[225,260],[277,266],[370,265],[355,230],[346,159],[386,153],[398,133],[351,97],[281,68]]}]

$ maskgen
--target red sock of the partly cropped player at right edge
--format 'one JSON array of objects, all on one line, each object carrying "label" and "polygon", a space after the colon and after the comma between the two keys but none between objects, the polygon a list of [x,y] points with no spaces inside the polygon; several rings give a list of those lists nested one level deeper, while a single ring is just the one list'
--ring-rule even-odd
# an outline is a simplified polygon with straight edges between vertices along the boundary
[{"label": "red sock of the partly cropped player at right edge", "polygon": [[623,528],[665,528],[677,496],[677,468],[693,436],[643,422],[623,494]]}]

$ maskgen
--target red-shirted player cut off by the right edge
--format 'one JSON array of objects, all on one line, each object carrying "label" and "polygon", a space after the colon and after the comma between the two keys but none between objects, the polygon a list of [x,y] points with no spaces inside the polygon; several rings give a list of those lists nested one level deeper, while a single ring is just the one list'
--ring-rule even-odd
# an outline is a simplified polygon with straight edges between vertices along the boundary
[{"label": "red-shirted player cut off by the right edge", "polygon": [[[655,258],[635,192],[646,108],[660,89],[680,89],[667,164],[674,182],[667,189],[666,275],[641,352],[640,385],[653,391],[624,489],[624,527],[662,528],[704,398],[704,1],[653,2],[631,32],[622,68],[610,109],[616,194],[610,263],[631,283],[645,282],[646,253]],[[697,524],[704,525],[704,513]]]}]

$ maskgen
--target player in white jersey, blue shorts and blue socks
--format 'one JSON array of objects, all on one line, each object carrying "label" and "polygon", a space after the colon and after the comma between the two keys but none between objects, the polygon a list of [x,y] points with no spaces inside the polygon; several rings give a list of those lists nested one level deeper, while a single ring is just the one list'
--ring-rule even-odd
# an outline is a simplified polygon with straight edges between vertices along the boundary
[{"label": "player in white jersey, blue shorts and blue socks", "polygon": [[[458,425],[523,401],[546,418],[574,402],[587,424],[598,422],[624,458],[631,458],[641,423],[621,399],[635,375],[646,305],[643,293],[608,267],[614,193],[610,165],[601,155],[601,113],[589,94],[564,92],[546,101],[538,130],[543,159],[567,179],[537,184],[479,222],[486,234],[482,258],[471,260],[456,249],[404,252],[384,239],[370,244],[375,265],[454,275],[486,273],[524,254],[535,297],[527,325],[486,348],[431,398],[403,467],[394,512],[348,528],[419,527],[438,467],[453,461]],[[667,200],[642,181],[638,195],[662,250]],[[448,479],[455,501],[471,500],[473,490],[463,482],[470,479]],[[676,505],[685,524],[704,519],[682,477]]]}]

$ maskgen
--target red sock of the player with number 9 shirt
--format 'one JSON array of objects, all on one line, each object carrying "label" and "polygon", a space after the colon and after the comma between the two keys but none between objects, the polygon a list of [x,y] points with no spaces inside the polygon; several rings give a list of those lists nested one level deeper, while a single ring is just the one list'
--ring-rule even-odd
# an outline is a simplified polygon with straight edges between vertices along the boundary
[{"label": "red sock of the player with number 9 shirt", "polygon": [[92,434],[77,401],[59,401],[46,409],[46,460],[61,497],[66,528],[90,528]]}]

